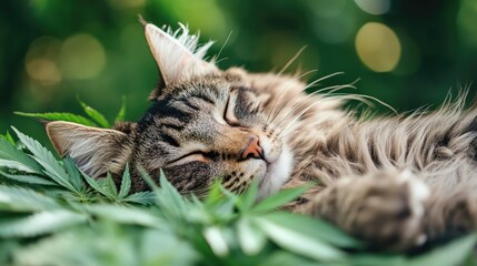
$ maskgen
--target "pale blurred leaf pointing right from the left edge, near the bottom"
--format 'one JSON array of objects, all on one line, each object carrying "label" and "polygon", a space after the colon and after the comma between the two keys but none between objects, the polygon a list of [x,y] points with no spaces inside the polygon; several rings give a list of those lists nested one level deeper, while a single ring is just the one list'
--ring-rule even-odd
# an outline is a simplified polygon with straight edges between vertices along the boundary
[{"label": "pale blurred leaf pointing right from the left edge, near the bottom", "polygon": [[81,224],[87,216],[66,209],[43,211],[27,217],[0,221],[1,237],[32,237]]}]

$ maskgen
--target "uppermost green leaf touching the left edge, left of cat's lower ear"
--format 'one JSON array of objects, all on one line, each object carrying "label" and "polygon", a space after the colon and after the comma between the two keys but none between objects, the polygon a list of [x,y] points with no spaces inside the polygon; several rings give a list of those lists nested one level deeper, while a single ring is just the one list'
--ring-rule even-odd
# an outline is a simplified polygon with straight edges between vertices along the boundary
[{"label": "uppermost green leaf touching the left edge, left of cat's lower ear", "polygon": [[[26,153],[18,150],[14,144],[11,144],[7,140],[0,140],[0,158],[17,163],[22,170],[28,173],[41,174],[41,166]],[[6,162],[7,163],[7,162]],[[19,170],[17,167],[17,170]]]}]

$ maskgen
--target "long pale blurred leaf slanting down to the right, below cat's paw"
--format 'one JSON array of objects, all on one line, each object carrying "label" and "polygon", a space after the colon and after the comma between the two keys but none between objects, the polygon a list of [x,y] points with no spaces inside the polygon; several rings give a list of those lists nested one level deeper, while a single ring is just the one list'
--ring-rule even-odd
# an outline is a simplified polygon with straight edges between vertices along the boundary
[{"label": "long pale blurred leaf slanting down to the right, below cat's paw", "polygon": [[317,259],[319,262],[344,262],[346,254],[325,242],[312,237],[295,227],[287,227],[267,218],[254,218],[267,236],[278,246],[292,253]]}]

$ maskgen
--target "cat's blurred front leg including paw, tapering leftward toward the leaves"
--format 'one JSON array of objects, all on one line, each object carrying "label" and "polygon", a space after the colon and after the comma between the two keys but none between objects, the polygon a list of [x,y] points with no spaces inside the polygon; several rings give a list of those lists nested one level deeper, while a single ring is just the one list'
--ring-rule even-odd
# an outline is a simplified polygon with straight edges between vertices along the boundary
[{"label": "cat's blurred front leg including paw, tapering leftward toward the leaves", "polygon": [[405,250],[426,241],[423,217],[427,185],[410,172],[380,171],[345,177],[304,205],[375,248]]}]

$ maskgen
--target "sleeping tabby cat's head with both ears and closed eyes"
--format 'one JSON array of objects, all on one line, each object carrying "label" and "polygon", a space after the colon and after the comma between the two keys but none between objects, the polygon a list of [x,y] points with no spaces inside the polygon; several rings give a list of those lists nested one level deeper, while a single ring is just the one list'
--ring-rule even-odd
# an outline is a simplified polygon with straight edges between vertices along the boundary
[{"label": "sleeping tabby cat's head with both ears and closed eyes", "polygon": [[265,196],[284,184],[292,156],[269,125],[261,95],[245,71],[221,71],[202,58],[186,28],[171,32],[146,24],[146,37],[162,83],[138,123],[101,130],[68,122],[47,124],[56,150],[95,177],[131,166],[133,188],[146,190],[139,167],[157,176],[163,170],[180,192],[201,194],[221,178],[242,192],[254,180]]}]

